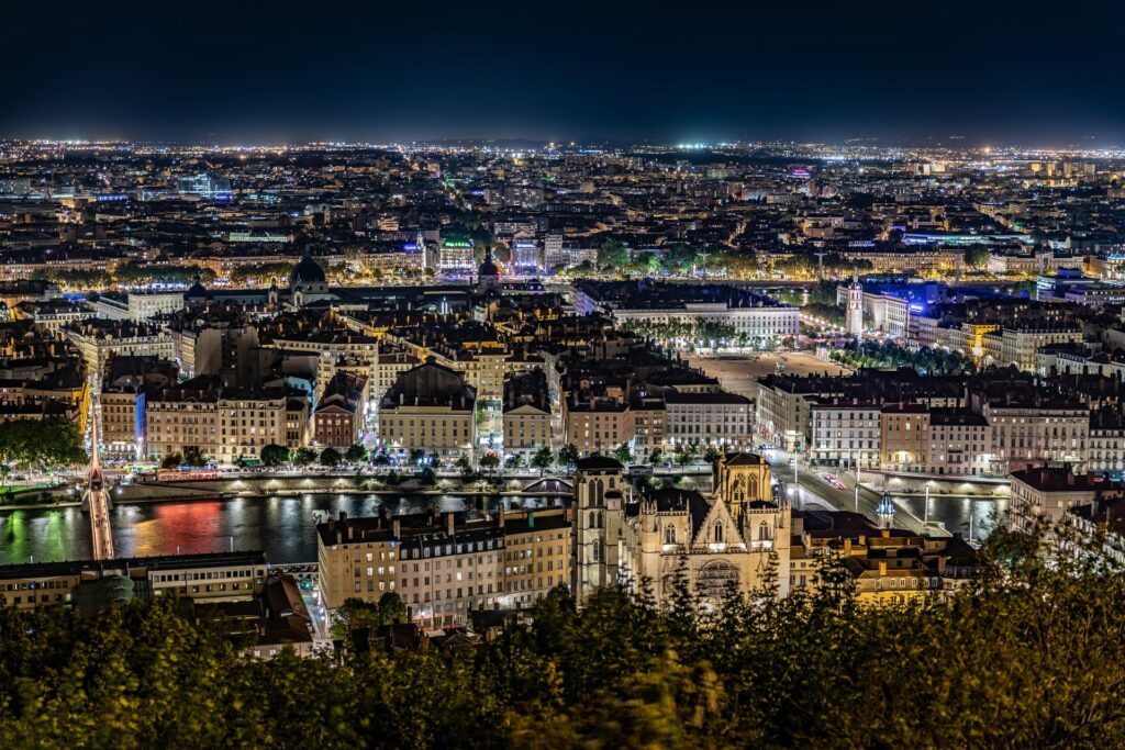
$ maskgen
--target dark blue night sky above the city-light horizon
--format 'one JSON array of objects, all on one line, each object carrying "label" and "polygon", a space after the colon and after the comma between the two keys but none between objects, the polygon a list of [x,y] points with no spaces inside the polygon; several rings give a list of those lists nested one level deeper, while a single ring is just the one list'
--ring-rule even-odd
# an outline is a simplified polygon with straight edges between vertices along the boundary
[{"label": "dark blue night sky above the city-light horizon", "polygon": [[0,135],[1125,144],[1123,43],[1110,0],[12,0]]}]

